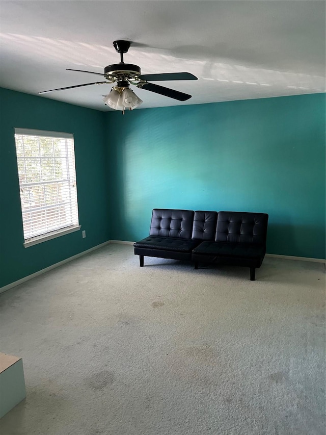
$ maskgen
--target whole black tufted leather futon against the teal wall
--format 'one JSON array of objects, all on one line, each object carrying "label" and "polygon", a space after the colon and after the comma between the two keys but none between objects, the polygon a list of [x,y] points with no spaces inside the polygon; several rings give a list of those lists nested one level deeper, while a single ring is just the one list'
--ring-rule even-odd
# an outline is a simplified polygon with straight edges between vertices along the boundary
[{"label": "whole black tufted leather futon against the teal wall", "polygon": [[144,256],[199,263],[223,263],[250,268],[255,280],[266,252],[268,215],[154,209],[149,237],[134,243],[140,266]]}]

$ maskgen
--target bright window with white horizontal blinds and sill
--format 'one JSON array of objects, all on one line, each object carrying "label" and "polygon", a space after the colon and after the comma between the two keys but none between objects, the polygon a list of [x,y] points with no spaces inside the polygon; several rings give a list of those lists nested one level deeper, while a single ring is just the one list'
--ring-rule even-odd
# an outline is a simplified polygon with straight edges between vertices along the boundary
[{"label": "bright window with white horizontal blinds and sill", "polygon": [[77,231],[73,135],[15,129],[24,246]]}]

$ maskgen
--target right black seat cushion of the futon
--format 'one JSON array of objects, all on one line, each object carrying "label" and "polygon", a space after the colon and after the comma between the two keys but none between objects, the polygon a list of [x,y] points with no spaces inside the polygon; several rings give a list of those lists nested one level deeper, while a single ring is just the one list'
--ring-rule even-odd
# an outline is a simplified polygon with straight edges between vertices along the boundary
[{"label": "right black seat cushion of the futon", "polygon": [[202,242],[193,250],[193,254],[216,255],[216,257],[232,257],[259,259],[264,257],[265,247],[251,243]]}]

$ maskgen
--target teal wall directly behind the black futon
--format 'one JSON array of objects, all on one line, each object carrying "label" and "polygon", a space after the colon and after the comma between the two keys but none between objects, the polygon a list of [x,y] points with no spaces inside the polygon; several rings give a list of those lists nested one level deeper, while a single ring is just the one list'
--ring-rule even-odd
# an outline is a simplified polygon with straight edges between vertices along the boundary
[{"label": "teal wall directly behind the black futon", "polygon": [[106,113],[112,239],[153,208],[269,214],[267,252],[325,258],[325,94]]}]

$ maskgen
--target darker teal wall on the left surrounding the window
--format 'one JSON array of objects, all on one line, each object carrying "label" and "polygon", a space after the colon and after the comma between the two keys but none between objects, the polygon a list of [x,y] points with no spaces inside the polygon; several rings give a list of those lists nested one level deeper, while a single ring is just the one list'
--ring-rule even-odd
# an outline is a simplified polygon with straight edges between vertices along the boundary
[{"label": "darker teal wall on the left surrounding the window", "polygon": [[[109,240],[105,113],[0,88],[0,287]],[[14,127],[73,133],[77,231],[23,247]]]}]

